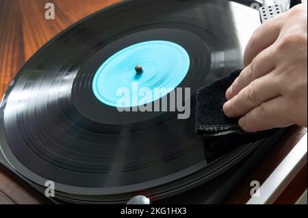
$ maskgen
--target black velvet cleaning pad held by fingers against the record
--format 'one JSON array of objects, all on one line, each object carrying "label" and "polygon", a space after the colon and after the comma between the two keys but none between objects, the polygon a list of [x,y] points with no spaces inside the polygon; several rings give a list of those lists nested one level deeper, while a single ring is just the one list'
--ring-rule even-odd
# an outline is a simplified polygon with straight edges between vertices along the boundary
[{"label": "black velvet cleaning pad held by fingers against the record", "polygon": [[205,85],[196,94],[196,133],[203,135],[210,150],[231,150],[235,146],[259,141],[277,130],[247,133],[238,125],[239,118],[228,118],[222,107],[225,93],[242,70],[234,70],[227,77]]}]

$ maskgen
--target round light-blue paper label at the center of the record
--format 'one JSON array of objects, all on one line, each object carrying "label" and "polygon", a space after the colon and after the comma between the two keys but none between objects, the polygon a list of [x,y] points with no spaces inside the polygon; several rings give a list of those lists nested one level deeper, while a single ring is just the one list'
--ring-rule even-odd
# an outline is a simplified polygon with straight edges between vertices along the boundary
[{"label": "round light-blue paper label at the center of the record", "polygon": [[[94,74],[94,96],[111,107],[138,107],[152,103],[164,96],[158,89],[168,93],[183,81],[190,68],[190,56],[179,44],[164,40],[140,42],[126,47],[107,59]],[[142,103],[142,90],[151,92]],[[123,94],[130,100],[120,104]],[[141,96],[140,96],[141,95]],[[139,99],[140,99],[139,98]]]}]

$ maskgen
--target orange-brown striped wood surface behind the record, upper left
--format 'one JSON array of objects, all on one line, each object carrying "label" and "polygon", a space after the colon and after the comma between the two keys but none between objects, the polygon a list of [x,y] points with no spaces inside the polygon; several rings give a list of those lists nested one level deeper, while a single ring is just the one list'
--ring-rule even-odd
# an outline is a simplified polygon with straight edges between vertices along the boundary
[{"label": "orange-brown striped wood surface behind the record, upper left", "polygon": [[[63,29],[119,0],[0,0],[0,96],[19,68]],[[55,4],[46,20],[45,4]]]}]

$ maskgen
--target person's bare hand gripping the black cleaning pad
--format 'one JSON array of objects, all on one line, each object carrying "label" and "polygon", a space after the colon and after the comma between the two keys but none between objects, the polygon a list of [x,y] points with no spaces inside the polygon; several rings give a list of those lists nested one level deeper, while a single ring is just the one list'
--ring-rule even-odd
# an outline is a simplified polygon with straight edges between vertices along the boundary
[{"label": "person's bare hand gripping the black cleaning pad", "polygon": [[247,132],[307,126],[307,4],[259,27],[246,46],[244,70],[226,92],[224,113]]}]

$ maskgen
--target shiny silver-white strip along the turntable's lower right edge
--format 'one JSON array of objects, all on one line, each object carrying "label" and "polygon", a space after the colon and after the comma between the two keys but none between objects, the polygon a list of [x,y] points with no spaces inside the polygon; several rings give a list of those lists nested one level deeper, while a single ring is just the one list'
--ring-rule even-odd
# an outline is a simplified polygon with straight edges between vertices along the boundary
[{"label": "shiny silver-white strip along the turntable's lower right edge", "polygon": [[307,163],[307,133],[246,204],[273,204]]}]

